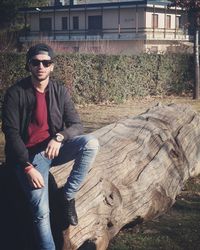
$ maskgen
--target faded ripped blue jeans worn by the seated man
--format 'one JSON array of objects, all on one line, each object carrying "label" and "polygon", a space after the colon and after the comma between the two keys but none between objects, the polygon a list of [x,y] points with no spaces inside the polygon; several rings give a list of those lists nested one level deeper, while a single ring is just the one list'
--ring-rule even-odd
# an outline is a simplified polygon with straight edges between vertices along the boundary
[{"label": "faded ripped blue jeans worn by the seated man", "polygon": [[49,218],[49,168],[74,160],[72,171],[64,185],[67,199],[73,199],[96,157],[98,148],[99,143],[95,137],[92,135],[82,135],[64,142],[60,148],[58,157],[54,160],[46,158],[44,151],[30,155],[30,162],[36,165],[36,169],[44,178],[45,187],[41,189],[30,187],[26,174],[24,174],[20,166],[17,166],[17,176],[28,197],[33,215],[36,241],[39,250],[55,250]]}]

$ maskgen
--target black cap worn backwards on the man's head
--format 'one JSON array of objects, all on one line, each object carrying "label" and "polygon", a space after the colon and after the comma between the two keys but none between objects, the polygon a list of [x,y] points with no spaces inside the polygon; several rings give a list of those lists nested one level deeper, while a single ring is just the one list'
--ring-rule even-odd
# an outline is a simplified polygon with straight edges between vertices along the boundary
[{"label": "black cap worn backwards on the man's head", "polygon": [[36,44],[36,45],[30,47],[30,49],[26,53],[26,66],[25,66],[26,70],[29,70],[29,68],[28,68],[29,61],[34,56],[39,55],[39,54],[48,55],[49,57],[51,57],[51,59],[53,59],[53,57],[54,57],[53,49],[49,45],[47,45],[45,43]]}]

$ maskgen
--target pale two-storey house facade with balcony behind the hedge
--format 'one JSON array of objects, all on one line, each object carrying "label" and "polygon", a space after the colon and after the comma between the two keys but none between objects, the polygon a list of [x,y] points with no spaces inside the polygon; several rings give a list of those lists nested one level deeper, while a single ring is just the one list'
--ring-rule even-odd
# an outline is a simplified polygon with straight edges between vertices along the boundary
[{"label": "pale two-storey house facade with balcony behind the hedge", "polygon": [[[84,3],[83,3],[84,2]],[[186,46],[190,37],[181,9],[163,1],[51,1],[24,8],[22,43],[51,41],[72,52],[138,54]]]}]

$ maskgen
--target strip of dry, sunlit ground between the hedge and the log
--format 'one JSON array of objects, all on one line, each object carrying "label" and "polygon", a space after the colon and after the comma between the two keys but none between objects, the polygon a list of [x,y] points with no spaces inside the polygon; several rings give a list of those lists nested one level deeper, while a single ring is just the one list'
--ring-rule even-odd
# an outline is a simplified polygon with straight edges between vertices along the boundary
[{"label": "strip of dry, sunlit ground between the hedge and the log", "polygon": [[200,112],[200,101],[191,97],[145,97],[127,101],[122,104],[104,103],[99,105],[89,104],[78,106],[85,132],[91,132],[120,119],[139,115],[157,104],[184,103],[191,105]]}]

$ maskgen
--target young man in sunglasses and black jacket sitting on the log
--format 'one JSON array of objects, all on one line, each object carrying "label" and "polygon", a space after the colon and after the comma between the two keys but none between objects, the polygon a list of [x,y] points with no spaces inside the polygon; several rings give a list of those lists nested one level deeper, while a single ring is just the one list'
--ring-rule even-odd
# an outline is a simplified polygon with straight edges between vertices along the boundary
[{"label": "young man in sunglasses and black jacket sitting on the log", "polygon": [[49,221],[48,175],[53,165],[75,160],[64,185],[68,222],[77,225],[75,195],[95,159],[98,141],[83,133],[67,89],[50,79],[54,53],[37,44],[26,55],[31,76],[11,86],[3,104],[6,163],[28,198],[40,250],[55,250]]}]

